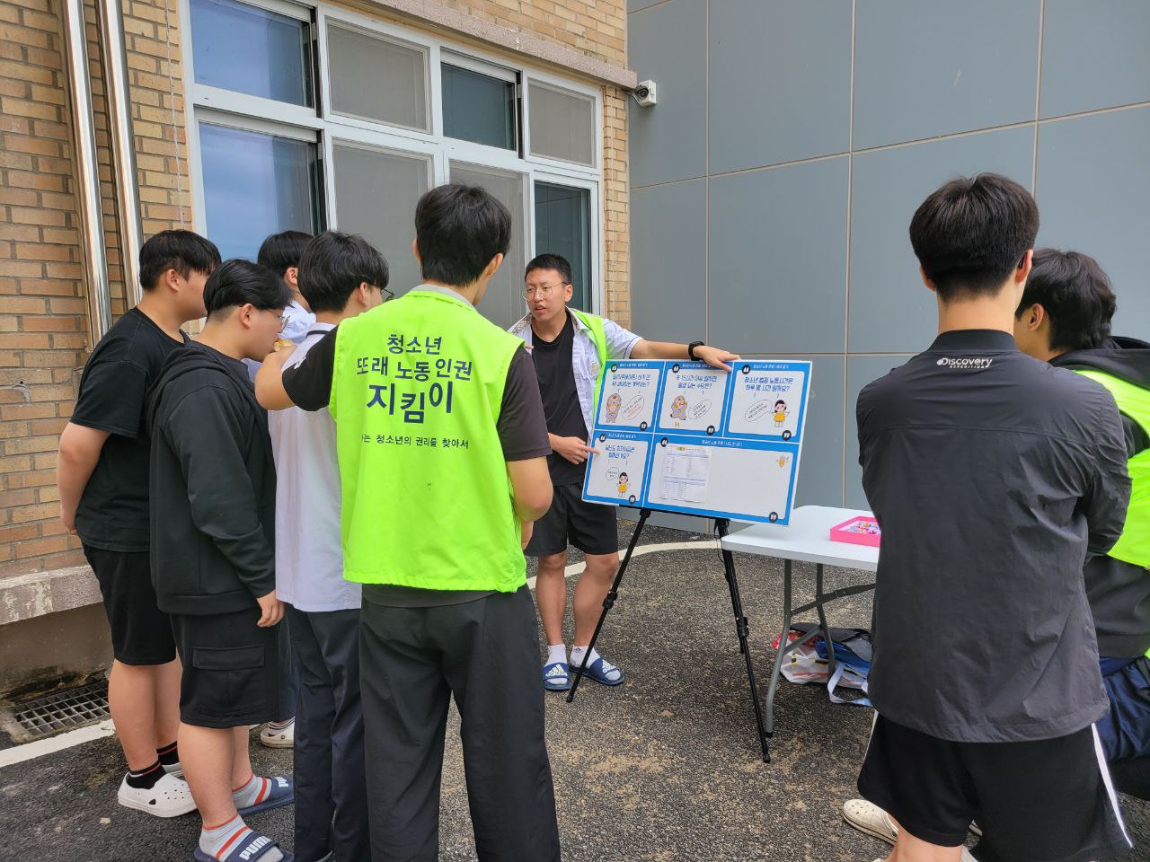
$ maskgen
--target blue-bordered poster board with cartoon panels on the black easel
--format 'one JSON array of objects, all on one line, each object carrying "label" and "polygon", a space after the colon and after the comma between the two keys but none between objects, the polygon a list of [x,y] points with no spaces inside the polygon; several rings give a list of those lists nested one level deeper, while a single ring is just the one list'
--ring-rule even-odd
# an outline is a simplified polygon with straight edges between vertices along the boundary
[{"label": "blue-bordered poster board with cartoon panels on the black easel", "polygon": [[583,499],[787,524],[810,362],[620,360],[603,370]]}]

